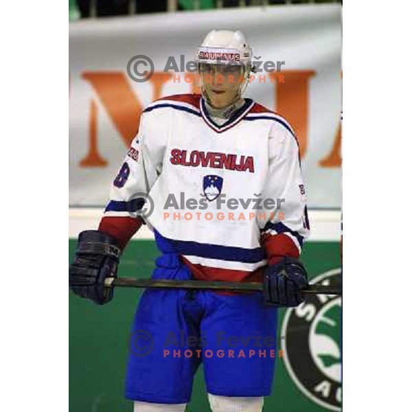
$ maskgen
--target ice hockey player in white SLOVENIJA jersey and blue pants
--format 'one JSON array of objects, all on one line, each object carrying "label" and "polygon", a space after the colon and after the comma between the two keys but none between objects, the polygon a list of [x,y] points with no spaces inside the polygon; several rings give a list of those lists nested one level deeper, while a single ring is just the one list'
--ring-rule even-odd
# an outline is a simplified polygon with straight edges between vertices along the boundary
[{"label": "ice hockey player in white SLOVENIJA jersey and blue pants", "polygon": [[[151,336],[152,348],[146,356],[130,353],[126,374],[135,412],[185,411],[201,363],[212,411],[258,412],[273,384],[275,347],[265,342],[276,343],[277,308],[300,304],[308,284],[298,260],[309,233],[299,147],[284,117],[242,97],[253,67],[241,32],[212,30],[196,61],[201,95],[172,95],[144,109],[98,230],[80,233],[69,284],[96,304],[111,301],[104,279],[117,274],[143,222],[161,252],[152,279],[264,282],[264,293],[147,289],[132,332]],[[207,209],[165,210],[170,195],[179,201],[182,193]],[[150,216],[130,216],[149,209],[147,195]],[[229,198],[240,199],[237,210]],[[284,199],[282,219],[269,199]]]}]

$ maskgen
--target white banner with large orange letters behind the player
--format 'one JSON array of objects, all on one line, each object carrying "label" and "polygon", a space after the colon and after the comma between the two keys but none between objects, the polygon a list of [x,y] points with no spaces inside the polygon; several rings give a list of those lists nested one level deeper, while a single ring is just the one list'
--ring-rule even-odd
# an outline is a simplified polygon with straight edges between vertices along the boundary
[{"label": "white banner with large orange letters behind the player", "polygon": [[[69,203],[102,206],[143,108],[196,91],[187,63],[212,29],[244,32],[262,62],[247,96],[297,132],[311,208],[341,207],[341,5],[151,14],[69,24]],[[139,82],[141,62],[153,73]],[[131,62],[128,74],[128,62]],[[270,72],[272,67],[280,71]],[[280,67],[279,67],[280,62]],[[284,63],[282,63],[284,62]],[[265,65],[266,64],[266,65]],[[174,67],[164,71],[169,67]],[[172,65],[172,66],[171,66]],[[268,69],[266,71],[265,69]]]}]

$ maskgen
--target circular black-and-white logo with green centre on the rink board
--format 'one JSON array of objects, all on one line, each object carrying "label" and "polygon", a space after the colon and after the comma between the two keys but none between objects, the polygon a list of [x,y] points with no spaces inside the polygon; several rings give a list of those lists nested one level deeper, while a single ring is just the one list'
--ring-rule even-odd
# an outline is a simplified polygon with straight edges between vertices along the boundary
[{"label": "circular black-and-white logo with green centre on the rink board", "polygon": [[[314,277],[312,284],[341,284],[341,268]],[[282,324],[282,350],[290,377],[313,402],[341,411],[342,298],[308,295],[306,301],[286,310]]]}]

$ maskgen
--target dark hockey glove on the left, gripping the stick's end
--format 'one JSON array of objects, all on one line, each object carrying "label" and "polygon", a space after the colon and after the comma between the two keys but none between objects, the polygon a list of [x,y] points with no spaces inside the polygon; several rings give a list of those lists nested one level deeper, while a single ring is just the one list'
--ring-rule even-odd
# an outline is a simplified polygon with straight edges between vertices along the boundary
[{"label": "dark hockey glove on the left, gripping the stick's end", "polygon": [[106,277],[117,276],[122,250],[115,238],[98,230],[82,231],[76,258],[69,267],[69,286],[76,295],[103,305],[113,299],[113,288],[104,286]]}]

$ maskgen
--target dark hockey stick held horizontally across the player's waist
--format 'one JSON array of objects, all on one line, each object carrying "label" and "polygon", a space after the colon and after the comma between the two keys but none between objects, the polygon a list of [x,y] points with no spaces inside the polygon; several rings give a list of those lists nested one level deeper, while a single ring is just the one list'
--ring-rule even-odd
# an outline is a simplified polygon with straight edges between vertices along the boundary
[{"label": "dark hockey stick held horizontally across the player's waist", "polygon": [[[263,290],[258,282],[205,282],[201,280],[132,279],[130,277],[107,277],[105,286],[123,288],[166,288],[166,289],[209,289],[209,290]],[[302,289],[304,293],[315,295],[342,295],[342,286],[310,284]]]}]

